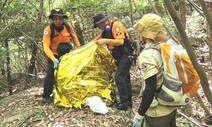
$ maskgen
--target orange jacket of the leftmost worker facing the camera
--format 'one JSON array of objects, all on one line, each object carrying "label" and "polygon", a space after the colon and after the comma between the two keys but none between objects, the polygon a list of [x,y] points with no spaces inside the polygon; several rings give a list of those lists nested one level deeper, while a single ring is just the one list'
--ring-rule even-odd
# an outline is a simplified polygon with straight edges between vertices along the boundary
[{"label": "orange jacket of the leftmost worker facing the camera", "polygon": [[64,26],[63,30],[61,32],[58,32],[56,30],[54,30],[54,34],[58,35],[56,37],[54,37],[51,40],[51,28],[50,25],[47,26],[44,29],[44,34],[43,34],[43,48],[44,48],[44,52],[45,54],[52,60],[55,60],[54,55],[58,55],[57,53],[57,47],[59,45],[59,43],[61,42],[66,42],[66,43],[70,43],[70,36],[74,41],[74,44],[76,47],[80,46],[79,40],[75,34],[75,32],[73,31],[72,26],[69,24],[70,26],[70,34],[68,32],[68,30],[66,29],[66,27]]}]

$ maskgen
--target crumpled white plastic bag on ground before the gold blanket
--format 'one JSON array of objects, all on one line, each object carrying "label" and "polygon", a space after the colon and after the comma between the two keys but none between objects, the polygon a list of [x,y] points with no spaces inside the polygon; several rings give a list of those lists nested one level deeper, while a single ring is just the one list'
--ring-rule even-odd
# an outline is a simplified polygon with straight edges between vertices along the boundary
[{"label": "crumpled white plastic bag on ground before the gold blanket", "polygon": [[106,114],[108,112],[106,104],[98,96],[86,98],[86,105],[95,113]]}]

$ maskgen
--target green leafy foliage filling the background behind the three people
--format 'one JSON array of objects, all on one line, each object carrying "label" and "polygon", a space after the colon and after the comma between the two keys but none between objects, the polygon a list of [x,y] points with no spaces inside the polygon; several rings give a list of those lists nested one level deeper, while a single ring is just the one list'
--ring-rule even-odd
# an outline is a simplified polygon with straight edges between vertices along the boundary
[{"label": "green leafy foliage filling the background behind the three people", "polygon": [[[39,56],[36,57],[41,57],[40,62],[46,62],[45,59],[42,60],[45,56],[42,49],[42,34],[43,29],[50,23],[48,15],[51,9],[56,7],[62,8],[69,16],[67,22],[70,22],[73,26],[75,23],[79,24],[84,40],[88,42],[100,33],[98,29],[93,29],[92,17],[97,13],[110,15],[111,19],[121,21],[126,29],[130,30],[132,35],[136,35],[131,30],[133,29],[133,23],[139,20],[143,14],[153,12],[153,7],[149,1],[155,2],[155,0],[131,0],[132,3],[129,0],[51,0],[43,1],[43,8],[40,8],[40,1],[9,0],[6,1],[5,6],[1,9],[0,42],[3,43],[5,39],[9,40],[12,72],[14,70],[27,72],[34,44],[37,44],[39,49]],[[163,6],[164,0],[158,0],[158,2],[160,6]],[[132,10],[130,5],[132,5]],[[165,25],[171,33],[177,35],[169,15],[164,13],[163,18],[165,19]],[[194,18],[192,20],[194,20],[193,23],[196,22]],[[190,20],[188,22],[192,23]],[[195,29],[194,27],[189,25],[188,33],[191,33],[189,36],[199,38],[201,35],[205,40],[207,37],[204,34],[205,29],[193,30]],[[137,36],[134,38],[137,38]],[[0,63],[0,66],[5,64],[5,51],[3,47],[0,48],[0,60],[3,61]]]}]

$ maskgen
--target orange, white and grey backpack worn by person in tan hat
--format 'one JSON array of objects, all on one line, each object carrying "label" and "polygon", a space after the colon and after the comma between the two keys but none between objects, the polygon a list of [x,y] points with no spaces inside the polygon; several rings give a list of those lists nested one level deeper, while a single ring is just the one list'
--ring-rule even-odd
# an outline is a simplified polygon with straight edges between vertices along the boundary
[{"label": "orange, white and grey backpack worn by person in tan hat", "polygon": [[155,96],[158,103],[166,106],[187,105],[197,93],[200,78],[186,50],[172,41],[148,48],[158,50],[163,62],[163,85]]}]

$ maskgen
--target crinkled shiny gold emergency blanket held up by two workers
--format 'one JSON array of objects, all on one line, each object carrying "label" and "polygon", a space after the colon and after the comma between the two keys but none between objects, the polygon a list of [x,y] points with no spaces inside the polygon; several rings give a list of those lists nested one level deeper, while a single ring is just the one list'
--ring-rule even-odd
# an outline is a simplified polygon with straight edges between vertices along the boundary
[{"label": "crinkled shiny gold emergency blanket held up by two workers", "polygon": [[86,97],[99,96],[113,101],[112,73],[116,68],[112,55],[103,46],[88,43],[62,56],[55,71],[54,104],[81,108]]}]

